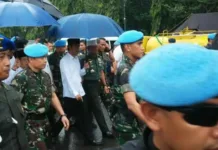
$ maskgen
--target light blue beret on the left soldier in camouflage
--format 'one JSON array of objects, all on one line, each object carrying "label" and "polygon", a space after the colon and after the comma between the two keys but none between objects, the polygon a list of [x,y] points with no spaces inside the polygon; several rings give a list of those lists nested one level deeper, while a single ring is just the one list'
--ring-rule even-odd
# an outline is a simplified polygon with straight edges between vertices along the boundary
[{"label": "light blue beret on the left soldier in camouflage", "polygon": [[48,54],[48,47],[43,44],[31,44],[24,48],[24,53],[28,57],[38,58]]}]

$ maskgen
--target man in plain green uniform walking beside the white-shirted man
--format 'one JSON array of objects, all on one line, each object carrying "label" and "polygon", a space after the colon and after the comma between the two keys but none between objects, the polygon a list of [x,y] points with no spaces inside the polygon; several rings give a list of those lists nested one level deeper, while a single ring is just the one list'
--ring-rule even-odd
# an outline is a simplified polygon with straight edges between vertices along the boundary
[{"label": "man in plain green uniform walking beside the white-shirted man", "polygon": [[106,84],[105,74],[103,71],[103,62],[98,56],[97,41],[88,41],[88,55],[85,62],[89,63],[89,68],[86,70],[86,75],[83,76],[83,87],[87,96],[90,114],[93,112],[95,118],[101,128],[103,135],[112,137],[112,132],[108,128],[105,117],[101,108],[100,99],[100,83],[104,85],[105,93],[109,93],[108,85]]}]

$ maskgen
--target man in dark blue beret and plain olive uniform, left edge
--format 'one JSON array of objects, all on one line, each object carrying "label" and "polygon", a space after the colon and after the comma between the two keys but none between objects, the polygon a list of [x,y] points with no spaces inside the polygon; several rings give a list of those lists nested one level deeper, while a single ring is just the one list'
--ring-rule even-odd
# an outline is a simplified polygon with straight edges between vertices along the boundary
[{"label": "man in dark blue beret and plain olive uniform, left edge", "polygon": [[[0,79],[9,76],[10,58],[15,49],[9,39],[0,39]],[[21,106],[22,94],[1,82],[0,85],[0,149],[28,150],[24,131],[25,114]]]}]

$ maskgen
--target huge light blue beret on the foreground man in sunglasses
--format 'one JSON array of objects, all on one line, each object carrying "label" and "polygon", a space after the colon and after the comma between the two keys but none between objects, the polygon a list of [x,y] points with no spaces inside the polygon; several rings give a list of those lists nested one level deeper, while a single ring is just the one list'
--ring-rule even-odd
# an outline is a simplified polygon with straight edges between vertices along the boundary
[{"label": "huge light blue beret on the foreground man in sunglasses", "polygon": [[130,72],[130,86],[160,106],[186,106],[218,96],[218,52],[168,44],[148,53]]}]

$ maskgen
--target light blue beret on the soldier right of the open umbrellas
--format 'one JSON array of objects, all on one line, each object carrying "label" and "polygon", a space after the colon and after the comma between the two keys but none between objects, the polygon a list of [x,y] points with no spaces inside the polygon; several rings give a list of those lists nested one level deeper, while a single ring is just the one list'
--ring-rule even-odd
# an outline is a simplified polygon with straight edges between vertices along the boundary
[{"label": "light blue beret on the soldier right of the open umbrellas", "polygon": [[136,30],[126,31],[121,34],[118,38],[120,44],[131,44],[143,39],[144,35],[142,32]]}]

